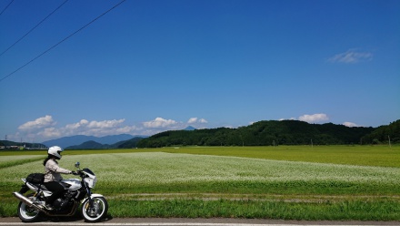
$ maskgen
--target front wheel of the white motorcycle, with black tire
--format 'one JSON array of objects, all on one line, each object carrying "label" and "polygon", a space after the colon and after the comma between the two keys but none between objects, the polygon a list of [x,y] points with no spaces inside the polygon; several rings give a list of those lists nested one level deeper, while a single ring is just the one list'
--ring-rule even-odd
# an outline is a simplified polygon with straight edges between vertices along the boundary
[{"label": "front wheel of the white motorcycle, with black tire", "polygon": [[93,200],[93,208],[90,208],[89,200],[85,200],[81,206],[81,214],[85,222],[97,222],[102,220],[108,211],[108,203],[104,197],[95,197]]}]

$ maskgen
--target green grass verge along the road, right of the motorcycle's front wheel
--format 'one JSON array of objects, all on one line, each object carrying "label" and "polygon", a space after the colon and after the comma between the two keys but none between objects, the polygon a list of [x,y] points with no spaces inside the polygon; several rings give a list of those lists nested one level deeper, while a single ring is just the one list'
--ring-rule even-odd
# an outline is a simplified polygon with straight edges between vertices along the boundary
[{"label": "green grass verge along the road, right of the motorcycle's front wheel", "polygon": [[246,218],[305,221],[399,221],[395,200],[322,203],[274,200],[110,200],[113,217]]}]

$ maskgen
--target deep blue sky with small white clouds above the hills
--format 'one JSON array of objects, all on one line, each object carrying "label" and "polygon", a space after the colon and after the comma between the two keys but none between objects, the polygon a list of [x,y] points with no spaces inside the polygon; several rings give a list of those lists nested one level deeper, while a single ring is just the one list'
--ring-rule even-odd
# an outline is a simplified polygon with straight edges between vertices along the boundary
[{"label": "deep blue sky with small white clouds above the hills", "polygon": [[[0,52],[65,0],[10,2]],[[85,26],[119,2],[69,0],[0,56],[0,139],[400,119],[400,1],[127,0]]]}]

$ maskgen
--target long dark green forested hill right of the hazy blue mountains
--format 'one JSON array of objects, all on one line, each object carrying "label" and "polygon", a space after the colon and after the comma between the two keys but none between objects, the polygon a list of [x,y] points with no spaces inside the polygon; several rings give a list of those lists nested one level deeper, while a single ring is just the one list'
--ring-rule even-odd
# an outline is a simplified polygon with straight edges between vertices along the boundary
[{"label": "long dark green forested hill right of the hazy blue mountains", "polygon": [[[241,128],[205,128],[174,130],[142,139],[140,148],[175,145],[198,146],[269,146],[360,144],[375,128],[349,128],[344,125],[309,124],[297,120],[259,121]],[[366,141],[366,140],[365,140]]]}]

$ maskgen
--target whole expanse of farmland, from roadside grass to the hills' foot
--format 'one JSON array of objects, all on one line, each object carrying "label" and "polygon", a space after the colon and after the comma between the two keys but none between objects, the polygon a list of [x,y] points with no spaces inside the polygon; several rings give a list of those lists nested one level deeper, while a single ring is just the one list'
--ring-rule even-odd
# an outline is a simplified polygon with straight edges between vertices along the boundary
[{"label": "whole expanse of farmland, from roadside grass to the hills' foot", "polygon": [[[113,217],[400,221],[400,147],[65,150],[98,178]],[[45,151],[0,152],[1,216]],[[65,175],[65,178],[74,176]]]}]

